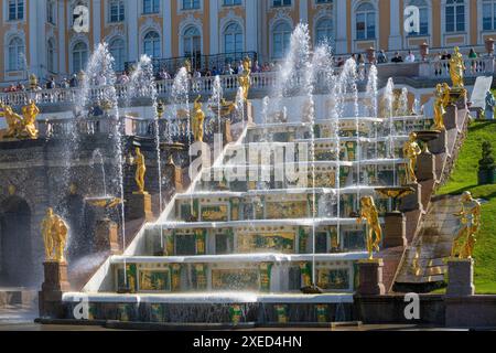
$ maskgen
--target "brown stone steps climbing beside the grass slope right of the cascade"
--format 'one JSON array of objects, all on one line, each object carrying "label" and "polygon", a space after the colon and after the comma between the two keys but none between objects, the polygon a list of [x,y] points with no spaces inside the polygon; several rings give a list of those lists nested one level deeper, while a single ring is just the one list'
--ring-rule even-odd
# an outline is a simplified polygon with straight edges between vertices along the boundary
[{"label": "brown stone steps climbing beside the grass slope right of the cascade", "polygon": [[444,137],[429,143],[434,158],[434,178],[420,181],[425,211],[398,265],[391,287],[393,291],[427,292],[444,280],[444,259],[451,254],[451,244],[459,227],[459,221],[453,215],[460,211],[459,196],[435,196],[434,192],[453,170],[467,133],[468,111],[464,107],[452,106],[444,121]]}]

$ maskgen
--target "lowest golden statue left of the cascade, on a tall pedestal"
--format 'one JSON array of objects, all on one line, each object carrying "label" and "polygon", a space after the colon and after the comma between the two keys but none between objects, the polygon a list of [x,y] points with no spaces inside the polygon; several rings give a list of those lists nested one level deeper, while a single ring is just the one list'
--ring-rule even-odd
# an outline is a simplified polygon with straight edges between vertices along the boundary
[{"label": "lowest golden statue left of the cascade, on a tall pedestal", "polygon": [[46,216],[42,221],[41,227],[46,261],[65,263],[64,249],[68,232],[65,222],[50,207],[46,210]]}]

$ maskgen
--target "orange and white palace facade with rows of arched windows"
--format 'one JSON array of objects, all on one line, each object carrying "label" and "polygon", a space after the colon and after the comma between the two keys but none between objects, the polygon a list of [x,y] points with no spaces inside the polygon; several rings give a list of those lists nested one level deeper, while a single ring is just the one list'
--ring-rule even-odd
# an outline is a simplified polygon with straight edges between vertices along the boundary
[{"label": "orange and white palace facade with rows of arched windows", "polygon": [[[256,53],[284,56],[290,35],[308,22],[314,42],[337,54],[482,46],[496,35],[496,0],[1,0],[0,82],[68,75],[106,41],[116,68],[141,54],[154,58]],[[88,8],[89,31],[76,32],[74,9]],[[403,30],[407,6],[420,10],[419,32]]]}]

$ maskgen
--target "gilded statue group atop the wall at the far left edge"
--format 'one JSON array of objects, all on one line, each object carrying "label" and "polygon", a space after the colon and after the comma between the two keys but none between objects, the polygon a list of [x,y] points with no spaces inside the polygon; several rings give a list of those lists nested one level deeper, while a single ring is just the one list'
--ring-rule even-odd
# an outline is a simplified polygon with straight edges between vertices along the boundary
[{"label": "gilded statue group atop the wall at the far left edge", "polygon": [[17,139],[36,139],[37,129],[35,126],[36,117],[40,114],[40,109],[36,107],[33,100],[30,99],[29,104],[22,107],[22,117],[14,113],[11,106],[0,104],[0,117],[6,118],[8,130],[4,138]]}]

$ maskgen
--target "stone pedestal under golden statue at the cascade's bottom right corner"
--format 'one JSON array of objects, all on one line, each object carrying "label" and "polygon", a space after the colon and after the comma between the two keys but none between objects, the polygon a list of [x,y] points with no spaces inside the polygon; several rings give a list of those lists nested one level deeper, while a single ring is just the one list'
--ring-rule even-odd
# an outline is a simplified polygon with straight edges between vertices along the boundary
[{"label": "stone pedestal under golden statue at the cascade's bottom right corner", "polygon": [[386,292],[382,284],[384,261],[381,258],[358,261],[359,296],[382,296]]}]

